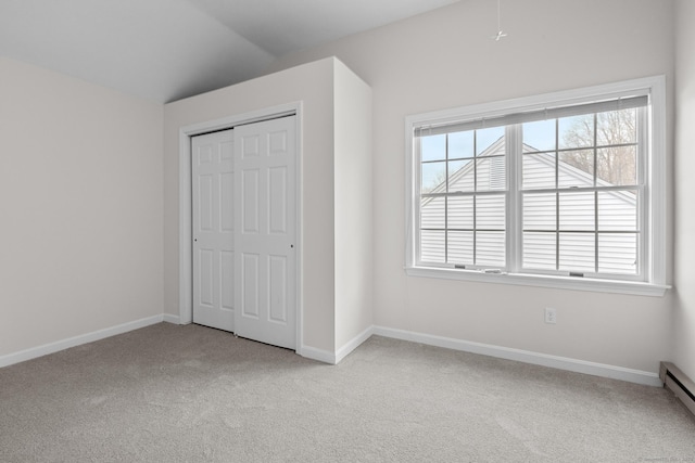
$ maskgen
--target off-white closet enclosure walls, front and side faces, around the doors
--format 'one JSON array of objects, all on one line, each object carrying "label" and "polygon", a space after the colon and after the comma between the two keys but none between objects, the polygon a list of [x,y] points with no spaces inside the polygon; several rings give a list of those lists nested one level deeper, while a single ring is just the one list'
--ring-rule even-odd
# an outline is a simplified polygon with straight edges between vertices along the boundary
[{"label": "off-white closet enclosure walls, front and side faces, around the doors", "polygon": [[[179,313],[179,131],[301,102],[303,355],[371,326],[371,91],[334,59],[165,105],[165,310]],[[306,348],[315,349],[314,353]],[[315,353],[319,352],[319,353]]]}]

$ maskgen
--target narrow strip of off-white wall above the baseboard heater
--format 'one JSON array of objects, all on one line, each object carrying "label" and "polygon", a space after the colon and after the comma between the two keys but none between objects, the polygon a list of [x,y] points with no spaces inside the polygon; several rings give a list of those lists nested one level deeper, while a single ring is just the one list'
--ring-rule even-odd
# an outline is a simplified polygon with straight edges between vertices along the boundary
[{"label": "narrow strip of off-white wall above the baseboard heater", "polygon": [[695,378],[695,2],[677,2],[675,286],[673,361]]}]

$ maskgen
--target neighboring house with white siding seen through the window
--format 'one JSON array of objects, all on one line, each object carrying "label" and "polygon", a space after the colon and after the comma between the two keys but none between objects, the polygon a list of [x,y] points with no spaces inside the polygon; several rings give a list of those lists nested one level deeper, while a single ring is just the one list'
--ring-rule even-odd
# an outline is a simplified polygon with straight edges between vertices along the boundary
[{"label": "neighboring house with white siding seen through the window", "polygon": [[[556,159],[555,153],[528,144],[523,153],[523,268],[593,272],[598,267],[634,274],[639,255],[634,190],[594,191],[611,185],[601,179],[594,185],[593,173],[561,156]],[[422,261],[504,268],[508,194],[504,137],[478,156],[450,160],[448,166],[448,181],[443,179],[420,203]],[[441,195],[431,196],[437,194]]]}]

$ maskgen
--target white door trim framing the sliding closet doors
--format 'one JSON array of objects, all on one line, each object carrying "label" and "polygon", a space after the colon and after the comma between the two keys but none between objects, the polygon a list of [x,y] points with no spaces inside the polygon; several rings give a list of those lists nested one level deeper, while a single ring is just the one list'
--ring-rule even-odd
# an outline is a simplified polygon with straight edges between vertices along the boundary
[{"label": "white door trim framing the sliding closet doors", "polygon": [[296,348],[295,351],[301,355],[301,346],[303,345],[302,321],[303,321],[303,297],[302,297],[302,102],[287,103],[278,106],[267,107],[258,111],[243,113],[239,115],[228,116],[220,119],[210,120],[205,123],[194,124],[179,129],[179,156],[178,156],[178,246],[179,246],[179,323],[188,324],[193,321],[193,261],[192,261],[192,198],[191,198],[191,137],[213,132],[216,130],[231,129],[233,126],[241,124],[250,124],[275,117],[288,116],[294,114],[296,116]]}]

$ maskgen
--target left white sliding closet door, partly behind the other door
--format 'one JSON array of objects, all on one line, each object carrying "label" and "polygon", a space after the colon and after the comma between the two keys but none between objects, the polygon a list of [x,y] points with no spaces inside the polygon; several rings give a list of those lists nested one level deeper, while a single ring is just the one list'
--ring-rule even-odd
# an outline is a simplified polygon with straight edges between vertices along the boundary
[{"label": "left white sliding closet door, partly behind the other door", "polygon": [[232,130],[192,138],[193,322],[235,330]]}]

